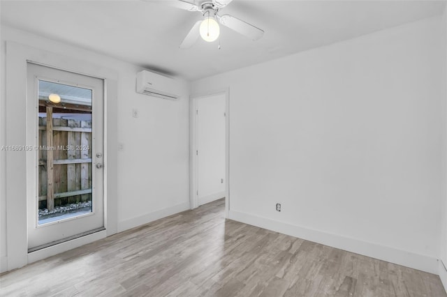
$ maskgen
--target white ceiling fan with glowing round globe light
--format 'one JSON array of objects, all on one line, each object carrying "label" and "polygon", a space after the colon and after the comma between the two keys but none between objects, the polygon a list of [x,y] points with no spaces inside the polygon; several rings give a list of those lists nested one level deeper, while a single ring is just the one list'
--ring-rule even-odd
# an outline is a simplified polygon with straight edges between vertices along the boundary
[{"label": "white ceiling fan with glowing round globe light", "polygon": [[219,10],[227,6],[233,0],[205,0],[200,4],[188,2],[185,0],[175,1],[175,7],[182,8],[189,11],[198,11],[202,13],[205,19],[196,22],[192,29],[184,38],[180,48],[186,49],[191,47],[198,36],[200,35],[203,40],[212,42],[219,37],[219,21],[223,26],[226,26],[237,33],[247,36],[251,40],[258,40],[263,36],[264,31],[252,24],[244,22],[243,20],[233,17],[233,15],[220,15]]}]

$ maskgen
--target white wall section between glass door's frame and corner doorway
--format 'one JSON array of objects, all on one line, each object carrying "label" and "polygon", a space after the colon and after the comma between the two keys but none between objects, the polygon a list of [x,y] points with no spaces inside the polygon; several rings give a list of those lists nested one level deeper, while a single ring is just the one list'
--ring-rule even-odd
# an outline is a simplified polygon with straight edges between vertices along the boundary
[{"label": "white wall section between glass door's frame and corner doorway", "polygon": [[178,101],[136,94],[137,69],[122,76],[118,105],[120,231],[189,209],[189,83]]}]

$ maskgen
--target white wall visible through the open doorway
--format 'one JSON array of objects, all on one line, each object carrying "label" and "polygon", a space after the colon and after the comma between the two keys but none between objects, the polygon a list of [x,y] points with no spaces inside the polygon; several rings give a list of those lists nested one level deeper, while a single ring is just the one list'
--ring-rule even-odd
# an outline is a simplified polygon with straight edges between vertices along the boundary
[{"label": "white wall visible through the open doorway", "polygon": [[199,205],[225,197],[225,109],[225,93],[196,99]]}]

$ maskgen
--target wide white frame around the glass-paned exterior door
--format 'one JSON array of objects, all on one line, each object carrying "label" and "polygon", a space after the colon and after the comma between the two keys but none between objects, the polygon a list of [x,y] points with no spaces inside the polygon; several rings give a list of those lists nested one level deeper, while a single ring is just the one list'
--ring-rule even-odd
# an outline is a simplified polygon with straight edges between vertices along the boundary
[{"label": "wide white frame around the glass-paned exterior door", "polygon": [[[105,231],[28,253],[26,151],[6,151],[7,270],[117,233],[117,78],[115,71],[70,56],[6,42],[6,144],[27,145],[27,62],[104,80]],[[32,186],[32,185],[31,185]]]}]

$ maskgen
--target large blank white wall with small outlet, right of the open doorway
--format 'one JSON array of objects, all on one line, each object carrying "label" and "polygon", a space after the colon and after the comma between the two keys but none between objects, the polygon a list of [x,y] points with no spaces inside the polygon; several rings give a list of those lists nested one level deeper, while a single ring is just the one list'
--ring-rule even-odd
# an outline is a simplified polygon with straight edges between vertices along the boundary
[{"label": "large blank white wall with small outlet, right of the open doorway", "polygon": [[440,36],[433,17],[193,82],[230,89],[230,218],[437,273]]}]

